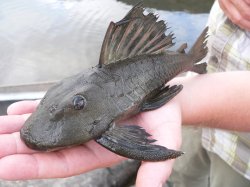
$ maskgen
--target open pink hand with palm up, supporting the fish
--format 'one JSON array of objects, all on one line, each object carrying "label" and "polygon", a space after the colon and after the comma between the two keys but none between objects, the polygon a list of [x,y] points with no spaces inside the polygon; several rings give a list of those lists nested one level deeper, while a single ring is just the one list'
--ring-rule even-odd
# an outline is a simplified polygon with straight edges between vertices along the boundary
[{"label": "open pink hand with palm up, supporting the fish", "polygon": [[[17,102],[8,108],[8,116],[0,117],[1,179],[68,177],[108,167],[125,159],[94,141],[54,152],[29,149],[21,141],[19,130],[37,104],[37,101]],[[155,111],[141,113],[127,123],[145,128],[158,140],[157,144],[171,149],[178,149],[180,146],[180,109],[174,101]],[[173,160],[143,162],[138,172],[137,186],[160,186],[170,175],[172,165]]]}]

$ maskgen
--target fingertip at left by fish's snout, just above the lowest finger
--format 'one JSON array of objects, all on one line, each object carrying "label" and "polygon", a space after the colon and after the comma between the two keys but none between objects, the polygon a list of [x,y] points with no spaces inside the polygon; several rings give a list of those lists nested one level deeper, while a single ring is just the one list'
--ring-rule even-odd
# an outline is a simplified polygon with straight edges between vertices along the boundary
[{"label": "fingertip at left by fish's snout, just above the lowest finger", "polygon": [[20,133],[0,135],[0,158],[13,155],[34,153],[35,150],[28,148],[20,138]]}]

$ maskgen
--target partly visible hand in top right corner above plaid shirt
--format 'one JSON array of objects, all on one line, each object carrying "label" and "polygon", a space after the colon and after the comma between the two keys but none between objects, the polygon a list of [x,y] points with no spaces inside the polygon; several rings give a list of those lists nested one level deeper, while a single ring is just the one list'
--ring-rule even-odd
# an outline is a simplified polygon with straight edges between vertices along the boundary
[{"label": "partly visible hand in top right corner above plaid shirt", "polygon": [[233,23],[250,31],[250,0],[219,0],[219,4]]}]

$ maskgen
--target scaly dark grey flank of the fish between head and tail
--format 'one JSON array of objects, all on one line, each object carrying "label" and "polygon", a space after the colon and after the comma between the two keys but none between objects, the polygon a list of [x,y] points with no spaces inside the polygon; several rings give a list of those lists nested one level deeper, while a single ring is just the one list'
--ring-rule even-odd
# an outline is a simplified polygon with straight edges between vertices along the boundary
[{"label": "scaly dark grey flank of the fish between head and tail", "polygon": [[[163,62],[168,63],[163,63]],[[186,62],[185,62],[186,61]],[[137,58],[110,64],[102,67],[102,72],[113,75],[104,90],[107,90],[109,101],[113,103],[112,111],[115,118],[127,118],[140,111],[142,101],[147,100],[154,91],[162,87],[179,73],[193,65],[192,57],[186,54],[166,56],[164,54],[145,55]],[[116,89],[114,90],[114,82]],[[112,90],[114,93],[109,93]],[[111,92],[112,92],[111,91]],[[127,112],[127,113],[126,113]]]}]

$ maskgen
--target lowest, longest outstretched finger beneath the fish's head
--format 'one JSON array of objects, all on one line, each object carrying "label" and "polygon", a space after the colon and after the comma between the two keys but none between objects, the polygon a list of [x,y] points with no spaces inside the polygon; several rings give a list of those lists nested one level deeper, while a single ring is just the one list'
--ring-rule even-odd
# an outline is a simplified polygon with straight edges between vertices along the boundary
[{"label": "lowest, longest outstretched finger beneath the fish's head", "polygon": [[61,151],[11,155],[0,160],[0,178],[24,180],[68,177],[121,161],[121,157],[96,144]]}]

